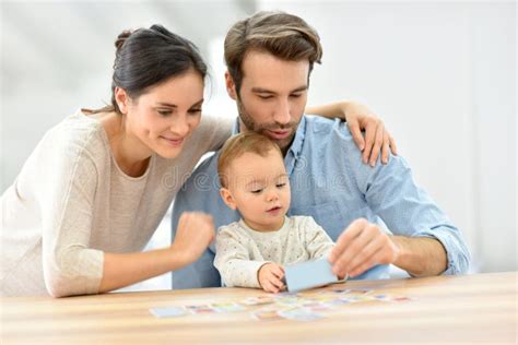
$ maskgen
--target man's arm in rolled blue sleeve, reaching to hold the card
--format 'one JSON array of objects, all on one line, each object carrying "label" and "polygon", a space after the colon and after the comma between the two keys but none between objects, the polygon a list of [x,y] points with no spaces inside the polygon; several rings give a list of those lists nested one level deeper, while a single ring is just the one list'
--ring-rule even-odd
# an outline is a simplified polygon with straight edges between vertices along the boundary
[{"label": "man's arm in rolled blue sleeve, reaching to hold the card", "polygon": [[392,157],[369,169],[354,164],[360,154],[349,150],[338,158],[346,160],[358,192],[396,236],[366,219],[351,223],[329,257],[334,273],[354,277],[376,264],[395,264],[419,276],[467,272],[470,253],[460,230],[416,186],[404,159]]}]

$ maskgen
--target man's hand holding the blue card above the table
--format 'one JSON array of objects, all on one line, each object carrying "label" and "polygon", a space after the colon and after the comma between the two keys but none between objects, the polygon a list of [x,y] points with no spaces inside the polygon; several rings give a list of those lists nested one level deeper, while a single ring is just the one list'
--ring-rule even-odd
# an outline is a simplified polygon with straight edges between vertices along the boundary
[{"label": "man's hand holding the blue card above the table", "polygon": [[399,248],[375,224],[360,218],[340,235],[329,254],[333,274],[351,277],[361,275],[376,264],[396,262]]}]

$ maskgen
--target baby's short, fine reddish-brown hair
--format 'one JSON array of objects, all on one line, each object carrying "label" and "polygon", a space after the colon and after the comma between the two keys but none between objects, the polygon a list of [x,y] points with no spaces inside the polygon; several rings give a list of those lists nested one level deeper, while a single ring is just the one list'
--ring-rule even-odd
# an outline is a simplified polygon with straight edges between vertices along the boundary
[{"label": "baby's short, fine reddish-brown hair", "polygon": [[217,158],[217,175],[221,186],[228,187],[227,171],[234,159],[239,158],[245,153],[255,153],[266,157],[271,150],[279,152],[282,159],[279,146],[264,135],[248,131],[228,139]]}]

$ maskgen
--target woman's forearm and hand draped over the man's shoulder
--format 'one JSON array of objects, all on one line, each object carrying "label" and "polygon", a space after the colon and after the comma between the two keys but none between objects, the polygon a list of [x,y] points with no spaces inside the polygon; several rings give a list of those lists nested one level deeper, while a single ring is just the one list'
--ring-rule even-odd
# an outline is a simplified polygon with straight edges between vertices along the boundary
[{"label": "woman's forearm and hand draped over the man's shoulder", "polygon": [[[333,104],[307,107],[306,114],[319,115],[329,119],[340,118],[348,122],[351,134],[358,148],[363,152],[363,162],[376,164],[381,150],[381,162],[388,163],[389,150],[397,155],[396,142],[385,128],[380,118],[367,107],[354,102],[338,102]],[[362,130],[365,131],[365,139]]]}]

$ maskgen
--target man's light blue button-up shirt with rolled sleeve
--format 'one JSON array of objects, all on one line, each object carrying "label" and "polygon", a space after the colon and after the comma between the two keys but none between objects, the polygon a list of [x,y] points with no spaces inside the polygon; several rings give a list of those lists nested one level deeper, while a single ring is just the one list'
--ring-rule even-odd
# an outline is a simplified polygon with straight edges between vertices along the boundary
[{"label": "man's light blue button-up shirt with rolled sleeve", "polygon": [[[238,121],[234,133],[238,132]],[[220,197],[219,153],[205,159],[178,191],[173,207],[173,238],[186,211],[214,217],[216,228],[240,218]],[[393,235],[429,237],[446,249],[444,274],[466,273],[470,253],[459,231],[426,191],[414,182],[400,156],[373,168],[362,163],[345,122],[304,116],[284,157],[292,189],[289,215],[313,216],[333,239],[354,219],[364,217]],[[196,230],[196,229],[192,229]],[[214,246],[195,263],[173,273],[173,288],[221,286],[213,266]],[[388,278],[388,265],[377,265],[358,279]]]}]

